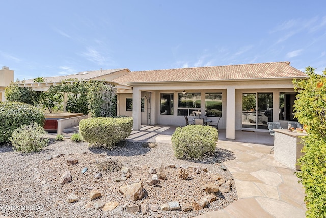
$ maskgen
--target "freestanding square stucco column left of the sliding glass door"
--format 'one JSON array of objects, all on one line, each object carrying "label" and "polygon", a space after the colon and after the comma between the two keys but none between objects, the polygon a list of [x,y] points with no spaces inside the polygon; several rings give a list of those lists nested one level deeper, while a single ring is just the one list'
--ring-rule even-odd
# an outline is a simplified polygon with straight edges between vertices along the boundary
[{"label": "freestanding square stucco column left of the sliding glass door", "polygon": [[235,88],[226,90],[226,138],[235,139]]}]

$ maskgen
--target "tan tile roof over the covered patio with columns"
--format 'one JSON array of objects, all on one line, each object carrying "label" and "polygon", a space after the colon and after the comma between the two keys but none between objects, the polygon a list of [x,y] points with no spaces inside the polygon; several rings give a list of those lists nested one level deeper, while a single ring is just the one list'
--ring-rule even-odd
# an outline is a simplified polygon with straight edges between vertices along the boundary
[{"label": "tan tile roof over the covered patio with columns", "polygon": [[194,67],[181,69],[164,69],[129,72],[115,78],[120,84],[150,82],[185,82],[215,80],[248,80],[272,78],[303,78],[307,75],[290,62],[273,62],[227,66]]}]

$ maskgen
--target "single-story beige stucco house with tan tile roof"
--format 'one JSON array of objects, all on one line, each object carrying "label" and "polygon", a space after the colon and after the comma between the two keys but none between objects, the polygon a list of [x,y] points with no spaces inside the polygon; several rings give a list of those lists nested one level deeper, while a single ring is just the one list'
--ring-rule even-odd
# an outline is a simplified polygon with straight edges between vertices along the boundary
[{"label": "single-story beige stucco house with tan tile roof", "polygon": [[185,118],[199,114],[218,120],[226,138],[235,130],[268,131],[267,122],[287,125],[293,120],[296,93],[292,80],[306,78],[290,62],[196,67],[150,71],[128,69],[80,72],[25,81],[20,86],[47,90],[64,79],[106,80],[117,85],[117,114],[133,116],[133,129],[141,125],[184,126]]}]

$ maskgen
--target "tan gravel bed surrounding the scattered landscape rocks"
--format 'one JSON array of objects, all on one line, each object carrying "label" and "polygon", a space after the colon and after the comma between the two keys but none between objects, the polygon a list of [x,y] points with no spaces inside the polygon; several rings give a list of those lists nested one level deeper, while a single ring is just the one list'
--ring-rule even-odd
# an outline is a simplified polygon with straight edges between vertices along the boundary
[{"label": "tan gravel bed surrounding the scattered landscape rocks", "polygon": [[[101,156],[102,152],[106,152],[107,156]],[[58,154],[65,155],[45,160],[49,156]],[[67,164],[68,157],[78,159],[78,164]],[[121,177],[121,171],[100,171],[98,162],[105,158],[128,167],[131,177],[116,182],[115,178]],[[222,209],[237,200],[231,173],[221,169],[223,161],[229,159],[234,159],[230,151],[217,149],[215,156],[204,158],[202,161],[180,160],[174,157],[171,145],[163,143],[125,141],[111,151],[89,148],[88,143],[85,142],[74,143],[70,139],[56,142],[52,139],[49,146],[40,153],[33,154],[14,152],[9,145],[2,144],[0,145],[0,215],[8,217],[193,217]],[[179,179],[178,169],[167,167],[169,164],[189,167],[189,179]],[[158,171],[161,166],[165,168],[167,179],[160,180],[155,187],[146,184],[146,180],[152,177],[149,173],[150,167],[155,167]],[[195,166],[201,167],[199,174],[194,173]],[[86,173],[82,173],[84,167],[88,168]],[[208,169],[207,173],[202,170],[204,168]],[[66,170],[71,172],[72,181],[61,185],[59,179]],[[103,176],[95,179],[94,176],[99,172]],[[224,194],[218,192],[217,200],[201,210],[188,212],[149,210],[147,214],[142,215],[140,212],[130,213],[125,210],[113,214],[112,211],[85,208],[85,205],[91,202],[90,191],[93,189],[100,191],[102,197],[92,202],[116,201],[119,205],[132,206],[145,202],[161,205],[178,201],[181,206],[186,202],[191,203],[207,196],[201,185],[212,182],[214,174],[229,180],[232,191]],[[145,196],[141,200],[127,200],[119,193],[121,186],[133,181],[143,183]],[[79,200],[68,203],[67,197],[71,193],[74,193]]]}]

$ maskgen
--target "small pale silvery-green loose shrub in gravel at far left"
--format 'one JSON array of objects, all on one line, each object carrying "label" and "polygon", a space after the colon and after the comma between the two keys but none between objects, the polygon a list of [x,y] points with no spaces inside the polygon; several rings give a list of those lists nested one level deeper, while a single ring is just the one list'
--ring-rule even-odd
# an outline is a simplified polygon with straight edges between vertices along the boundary
[{"label": "small pale silvery-green loose shrub in gravel at far left", "polygon": [[43,138],[46,134],[44,128],[34,122],[15,129],[9,140],[17,151],[38,152],[49,142],[48,138]]}]

